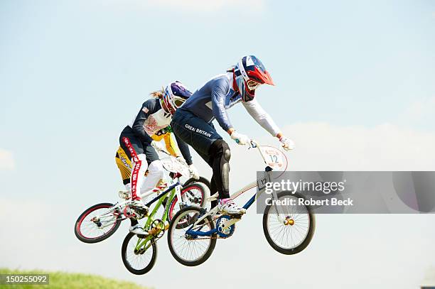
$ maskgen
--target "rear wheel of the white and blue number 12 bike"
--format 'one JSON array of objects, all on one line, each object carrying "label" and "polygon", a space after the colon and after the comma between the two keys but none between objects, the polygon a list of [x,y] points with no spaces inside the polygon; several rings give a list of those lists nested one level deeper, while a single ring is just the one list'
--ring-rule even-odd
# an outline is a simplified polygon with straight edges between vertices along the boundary
[{"label": "rear wheel of the white and blue number 12 bike", "polygon": [[[203,216],[204,209],[186,207],[174,217],[168,229],[168,246],[173,258],[185,266],[198,266],[210,257],[216,246],[216,233],[210,236],[190,236],[188,229],[193,231],[211,231],[215,223],[208,216],[200,224],[192,226]],[[178,229],[183,228],[183,229]]]}]

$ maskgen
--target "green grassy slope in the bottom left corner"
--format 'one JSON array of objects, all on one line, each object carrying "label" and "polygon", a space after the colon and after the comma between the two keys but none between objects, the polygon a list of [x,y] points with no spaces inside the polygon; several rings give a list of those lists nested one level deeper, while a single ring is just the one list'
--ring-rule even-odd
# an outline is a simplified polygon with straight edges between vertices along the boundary
[{"label": "green grassy slope in the bottom left corner", "polygon": [[6,268],[0,268],[0,274],[49,274],[49,285],[0,285],[0,288],[9,289],[21,289],[21,288],[33,288],[33,289],[75,289],[75,288],[104,288],[104,289],[145,289],[141,285],[137,285],[132,282],[120,281],[115,279],[104,278],[101,276],[79,274],[79,273],[64,273],[64,272],[45,272],[45,271],[21,271],[21,270],[9,270]]}]

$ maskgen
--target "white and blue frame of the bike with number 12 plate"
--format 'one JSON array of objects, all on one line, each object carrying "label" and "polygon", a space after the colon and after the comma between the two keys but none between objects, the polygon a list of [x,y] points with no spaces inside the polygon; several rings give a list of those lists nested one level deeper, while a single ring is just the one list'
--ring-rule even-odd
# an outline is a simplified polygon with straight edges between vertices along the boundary
[{"label": "white and blue frame of the bike with number 12 plate", "polygon": [[[259,143],[257,143],[257,141],[254,141],[254,140],[250,141],[250,145],[249,145],[249,147],[250,147],[250,148],[257,148],[258,151],[259,151],[259,153],[260,153],[260,155],[262,156],[262,159],[263,159],[264,163],[267,164],[266,157],[264,156],[264,153],[263,153],[262,150],[260,149]],[[264,169],[264,172],[265,172],[265,173],[269,173],[269,172],[271,172],[271,171],[272,171],[272,168],[270,168],[269,166],[267,166],[267,167]],[[249,185],[246,185],[245,187],[242,187],[242,189],[238,190],[237,192],[235,192],[234,194],[232,194],[230,197],[231,197],[232,199],[235,199],[236,197],[239,197],[240,195],[242,195],[242,194],[244,194],[245,192],[247,192],[248,190],[250,190],[250,189],[252,189],[252,188],[254,188],[254,187],[257,187],[257,185],[258,185],[257,182],[251,182],[251,183],[249,183]],[[244,208],[244,209],[249,209],[249,207],[251,207],[252,204],[254,204],[254,202],[257,200],[257,197],[258,197],[259,195],[261,195],[262,193],[264,193],[264,192],[265,192],[265,188],[263,188],[262,190],[259,190],[259,192],[256,192],[255,195],[253,195],[253,196],[252,196],[252,197],[251,197],[251,198],[246,202],[246,204],[243,206],[243,208]],[[208,200],[209,200],[209,201],[217,200],[217,197],[218,197],[218,195],[215,194],[215,195],[213,195],[212,197],[210,197]],[[272,200],[278,200],[278,197],[277,197],[277,194],[276,194],[275,191],[272,192]],[[273,203],[275,203],[275,202],[273,202]],[[279,219],[279,221],[280,221],[280,222],[284,222],[284,218],[282,217],[284,213],[283,213],[283,212],[279,212],[279,211],[280,211],[280,209],[278,209],[279,206],[278,206],[278,207],[274,206],[274,207],[275,207],[275,209],[276,209],[276,214],[278,215],[278,219]],[[209,212],[205,213],[202,217],[200,217],[198,220],[196,220],[195,223],[193,223],[193,224],[190,226],[190,228],[186,231],[186,234],[190,234],[191,236],[211,236],[211,235],[215,234],[215,233],[218,231],[218,228],[215,228],[215,229],[210,230],[210,231],[194,231],[194,230],[193,230],[193,227],[195,227],[195,226],[197,226],[198,224],[200,224],[200,222],[202,222],[202,221],[203,221],[205,218],[207,218],[208,216],[211,216],[212,219],[213,219],[213,217],[215,217],[215,215],[218,213],[218,211],[219,211],[218,206],[214,207],[213,209],[210,209]],[[232,216],[230,216],[230,217],[231,217],[231,219],[227,219],[227,220],[224,222],[224,226],[222,227],[222,229],[227,229],[227,227],[230,227],[230,226],[232,226],[232,224],[235,224],[236,222],[239,222],[239,221],[240,221],[240,217],[239,217],[239,218],[237,218],[237,217],[232,217]]]}]

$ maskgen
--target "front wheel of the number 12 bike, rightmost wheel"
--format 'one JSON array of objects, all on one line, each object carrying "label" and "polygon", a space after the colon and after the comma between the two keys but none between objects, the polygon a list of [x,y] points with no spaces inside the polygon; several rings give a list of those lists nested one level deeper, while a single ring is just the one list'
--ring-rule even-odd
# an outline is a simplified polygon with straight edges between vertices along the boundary
[{"label": "front wheel of the number 12 bike, rightmost wheel", "polygon": [[[279,192],[277,197],[284,202],[286,199],[294,199],[297,204],[297,200],[302,196],[297,193]],[[280,205],[280,215],[276,209],[274,205],[268,205],[264,209],[263,231],[267,242],[279,253],[293,255],[301,252],[310,244],[316,227],[316,219],[310,207]]]}]

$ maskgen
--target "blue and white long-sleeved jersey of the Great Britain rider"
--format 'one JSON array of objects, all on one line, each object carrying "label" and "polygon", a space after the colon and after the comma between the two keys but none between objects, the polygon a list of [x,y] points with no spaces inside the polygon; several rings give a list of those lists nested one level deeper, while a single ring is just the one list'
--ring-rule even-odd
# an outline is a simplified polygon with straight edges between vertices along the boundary
[{"label": "blue and white long-sleeved jersey of the Great Britain rider", "polygon": [[[186,109],[208,123],[216,119],[225,131],[232,128],[227,109],[230,109],[238,102],[242,102],[242,97],[232,89],[232,72],[217,75],[206,82],[203,87],[196,90],[191,97],[183,104]],[[279,133],[272,118],[259,105],[256,99],[250,102],[242,102],[245,109],[257,123],[272,136]]]}]

